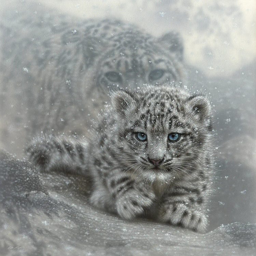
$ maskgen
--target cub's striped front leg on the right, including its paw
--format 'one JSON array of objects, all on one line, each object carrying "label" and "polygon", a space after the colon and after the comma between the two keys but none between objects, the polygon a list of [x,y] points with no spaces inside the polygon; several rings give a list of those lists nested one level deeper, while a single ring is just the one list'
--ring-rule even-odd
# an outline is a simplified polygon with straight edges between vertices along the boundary
[{"label": "cub's striped front leg on the right, including its paw", "polygon": [[177,188],[163,197],[159,221],[204,232],[207,217],[203,208],[203,195],[199,189]]}]

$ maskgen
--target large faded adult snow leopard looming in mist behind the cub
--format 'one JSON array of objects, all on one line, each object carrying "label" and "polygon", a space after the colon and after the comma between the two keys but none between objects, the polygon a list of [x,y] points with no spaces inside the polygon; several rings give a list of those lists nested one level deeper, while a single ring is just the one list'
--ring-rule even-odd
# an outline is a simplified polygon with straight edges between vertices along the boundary
[{"label": "large faded adult snow leopard looming in mist behind the cub", "polygon": [[1,22],[6,150],[22,152],[41,132],[86,134],[117,87],[185,81],[177,33],[155,38],[116,20],[79,22],[42,10],[11,13],[12,25],[6,14]]}]

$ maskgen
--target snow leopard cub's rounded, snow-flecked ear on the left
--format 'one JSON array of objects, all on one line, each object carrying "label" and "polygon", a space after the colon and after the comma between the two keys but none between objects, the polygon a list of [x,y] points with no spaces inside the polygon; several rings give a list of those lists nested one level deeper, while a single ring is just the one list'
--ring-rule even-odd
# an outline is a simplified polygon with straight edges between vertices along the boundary
[{"label": "snow leopard cub's rounded, snow-flecked ear on the left", "polygon": [[136,99],[132,92],[125,90],[118,90],[112,95],[112,105],[122,116],[125,116],[126,112],[135,108]]}]

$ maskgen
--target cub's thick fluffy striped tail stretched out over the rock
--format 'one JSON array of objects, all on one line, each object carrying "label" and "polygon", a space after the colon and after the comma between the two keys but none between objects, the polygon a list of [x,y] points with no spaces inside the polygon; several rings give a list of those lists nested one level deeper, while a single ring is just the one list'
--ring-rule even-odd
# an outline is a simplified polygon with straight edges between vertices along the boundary
[{"label": "cub's thick fluffy striped tail stretched out over the rock", "polygon": [[42,171],[85,174],[86,143],[64,136],[35,138],[26,149],[28,159]]}]

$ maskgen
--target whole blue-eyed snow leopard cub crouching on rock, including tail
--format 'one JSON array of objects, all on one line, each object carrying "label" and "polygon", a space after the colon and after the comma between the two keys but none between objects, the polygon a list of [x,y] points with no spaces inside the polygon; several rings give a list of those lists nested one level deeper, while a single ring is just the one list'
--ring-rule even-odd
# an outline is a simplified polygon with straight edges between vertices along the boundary
[{"label": "whole blue-eyed snow leopard cub crouching on rock, including tail", "polygon": [[46,171],[89,174],[90,202],[123,219],[146,216],[202,232],[212,172],[209,101],[171,86],[119,90],[88,146],[46,136],[28,147]]}]

